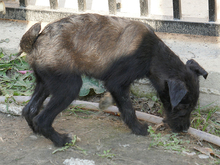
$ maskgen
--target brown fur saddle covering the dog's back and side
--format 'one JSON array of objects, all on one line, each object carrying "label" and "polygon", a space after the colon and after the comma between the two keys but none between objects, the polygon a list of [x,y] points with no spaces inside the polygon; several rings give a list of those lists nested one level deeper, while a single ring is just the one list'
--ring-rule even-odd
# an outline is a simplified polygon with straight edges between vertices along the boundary
[{"label": "brown fur saddle covering the dog's back and side", "polygon": [[45,27],[28,61],[52,70],[65,66],[73,72],[100,75],[115,60],[134,53],[148,31],[143,23],[117,17],[67,17]]}]

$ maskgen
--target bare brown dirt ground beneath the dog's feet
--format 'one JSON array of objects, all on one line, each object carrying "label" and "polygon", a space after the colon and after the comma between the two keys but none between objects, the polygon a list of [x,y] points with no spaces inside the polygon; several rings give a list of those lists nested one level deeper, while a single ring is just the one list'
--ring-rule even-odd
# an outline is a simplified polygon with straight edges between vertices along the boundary
[{"label": "bare brown dirt ground beneath the dog's feet", "polygon": [[[59,132],[80,137],[77,146],[86,154],[73,147],[52,154],[57,148],[43,136],[33,134],[24,118],[0,113],[0,164],[60,165],[71,157],[93,160],[96,165],[208,165],[213,162],[210,158],[198,158],[198,154],[188,156],[160,147],[148,149],[151,137],[131,134],[120,117],[102,112],[71,114],[65,111],[56,118],[54,127]],[[197,141],[189,135],[184,138],[190,140],[187,148],[193,152]],[[108,150],[114,157],[100,156]]]}]

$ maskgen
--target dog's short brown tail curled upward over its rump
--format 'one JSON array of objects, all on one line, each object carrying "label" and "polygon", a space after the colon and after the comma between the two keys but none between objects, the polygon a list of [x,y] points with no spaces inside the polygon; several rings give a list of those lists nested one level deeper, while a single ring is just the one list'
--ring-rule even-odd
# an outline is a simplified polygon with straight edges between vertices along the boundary
[{"label": "dog's short brown tail curled upward over its rump", "polygon": [[30,53],[33,49],[33,45],[37,40],[39,32],[41,30],[41,24],[34,24],[21,38],[20,47],[21,50],[17,55],[20,55],[22,52]]}]

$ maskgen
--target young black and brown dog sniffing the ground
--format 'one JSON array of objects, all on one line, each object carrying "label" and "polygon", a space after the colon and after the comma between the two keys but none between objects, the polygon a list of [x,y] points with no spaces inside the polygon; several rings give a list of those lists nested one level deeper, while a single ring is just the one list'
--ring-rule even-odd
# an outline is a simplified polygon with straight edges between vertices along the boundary
[{"label": "young black and brown dog sniffing the ground", "polygon": [[[136,135],[147,135],[148,125],[138,121],[129,96],[134,80],[147,77],[156,89],[175,132],[187,131],[190,113],[199,97],[199,76],[208,73],[195,61],[184,64],[149,25],[98,14],[72,15],[48,24],[33,25],[20,41],[20,52],[34,71],[36,87],[22,114],[33,132],[55,146],[71,141],[54,130],[55,117],[76,99],[81,75],[104,82]],[[46,107],[44,100],[51,95]]]}]

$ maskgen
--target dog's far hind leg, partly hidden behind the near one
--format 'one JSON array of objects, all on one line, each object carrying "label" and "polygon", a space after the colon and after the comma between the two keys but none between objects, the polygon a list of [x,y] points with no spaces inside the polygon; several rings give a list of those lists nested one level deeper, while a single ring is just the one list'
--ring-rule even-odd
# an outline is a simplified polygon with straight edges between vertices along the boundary
[{"label": "dog's far hind leg, partly hidden behind the near one", "polygon": [[33,131],[32,120],[39,113],[44,100],[49,96],[49,91],[45,88],[45,85],[38,76],[36,76],[36,83],[37,84],[30,101],[22,110],[22,115],[25,117],[28,125]]}]

